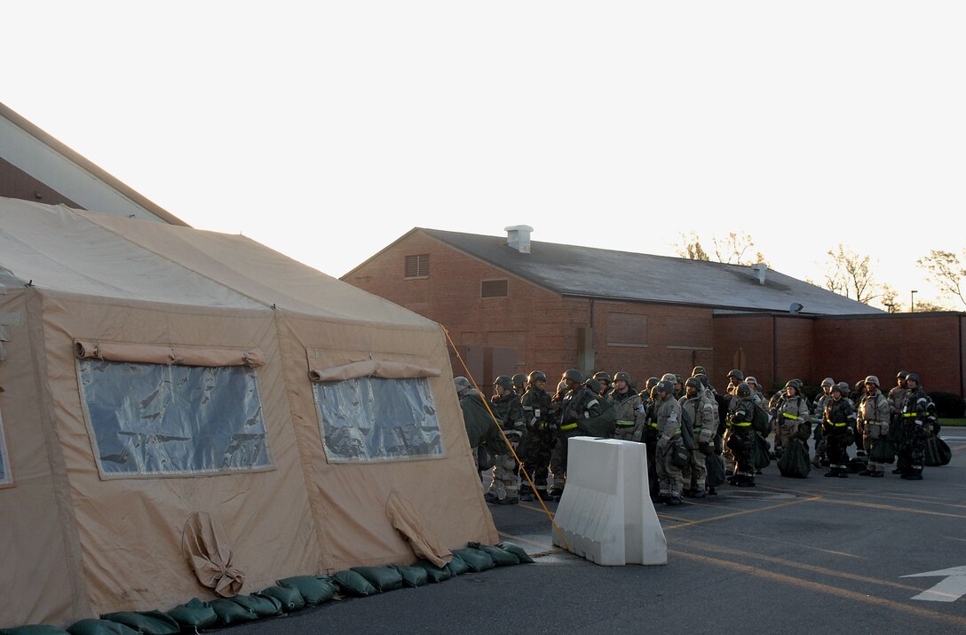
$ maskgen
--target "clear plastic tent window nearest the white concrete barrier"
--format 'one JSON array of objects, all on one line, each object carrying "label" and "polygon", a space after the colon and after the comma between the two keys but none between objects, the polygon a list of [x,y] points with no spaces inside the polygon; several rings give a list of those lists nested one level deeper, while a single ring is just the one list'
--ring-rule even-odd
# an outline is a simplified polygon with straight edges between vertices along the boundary
[{"label": "clear plastic tent window nearest the white concrete barrier", "polygon": [[436,402],[426,378],[359,377],[313,384],[331,463],[440,457]]}]

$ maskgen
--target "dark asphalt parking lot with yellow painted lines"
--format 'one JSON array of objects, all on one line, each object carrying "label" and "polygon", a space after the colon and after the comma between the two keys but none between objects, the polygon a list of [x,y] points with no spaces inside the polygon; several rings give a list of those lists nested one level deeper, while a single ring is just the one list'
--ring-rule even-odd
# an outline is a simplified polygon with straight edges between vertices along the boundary
[{"label": "dark asphalt parking lot with yellow painted lines", "polygon": [[754,488],[658,505],[663,566],[589,563],[553,546],[539,503],[490,505],[501,537],[536,563],[225,632],[966,632],[966,428],[943,437],[952,462],[922,481],[784,478],[773,462]]}]

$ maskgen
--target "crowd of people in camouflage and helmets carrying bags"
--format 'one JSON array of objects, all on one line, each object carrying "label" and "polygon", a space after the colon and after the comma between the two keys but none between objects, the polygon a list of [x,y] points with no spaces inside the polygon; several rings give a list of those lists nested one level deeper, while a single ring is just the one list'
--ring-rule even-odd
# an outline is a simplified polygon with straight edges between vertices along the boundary
[{"label": "crowd of people in camouflage and helmets carrying bags", "polygon": [[[612,378],[598,372],[584,379],[580,370],[571,368],[551,395],[545,390],[547,375],[534,370],[528,376],[497,377],[490,409],[467,378],[455,378],[454,386],[470,447],[476,450],[477,468],[493,470],[487,502],[515,505],[532,501],[534,495],[528,482],[521,488],[521,466],[503,437],[493,430],[492,410],[542,499],[559,500],[563,494],[567,441],[594,436],[645,443],[652,499],[681,505],[682,496],[703,498],[716,493],[714,486],[706,485],[706,476],[709,462],[721,460],[718,455],[734,461],[733,474],[727,477],[732,485],[753,487],[755,473],[760,474],[752,463],[754,435],[758,434],[752,424],[755,404],[763,406],[764,397],[754,378],[746,380],[740,370],[730,371],[727,378],[726,394],[720,395],[709,383],[704,367],[696,366],[687,381],[666,373],[660,379],[649,378],[638,392],[626,372],[617,372]],[[836,384],[826,378],[812,407],[802,393],[802,382],[789,381],[767,404],[775,455],[781,456],[782,449],[799,436],[800,426],[817,419],[821,425],[815,430],[813,462],[828,465],[825,476],[848,476],[847,447],[858,436],[863,444],[860,452],[869,457],[860,475],[885,475],[891,459],[885,460],[877,449],[891,439],[899,450],[894,474],[921,480],[925,440],[937,425],[935,405],[916,373],[900,371],[897,382],[886,397],[878,378],[868,376],[856,408],[844,382]]]}]

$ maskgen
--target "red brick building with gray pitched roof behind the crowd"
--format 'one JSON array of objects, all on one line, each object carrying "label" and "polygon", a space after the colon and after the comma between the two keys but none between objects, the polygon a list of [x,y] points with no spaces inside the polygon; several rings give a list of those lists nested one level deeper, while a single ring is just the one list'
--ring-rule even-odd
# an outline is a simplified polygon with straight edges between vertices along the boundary
[{"label": "red brick building with gray pitched roof behind the crowd", "polygon": [[[959,313],[890,315],[753,267],[414,228],[342,279],[439,322],[480,385],[539,368],[626,370],[636,380],[730,368],[766,388],[792,377],[885,386],[917,369],[962,392]],[[899,342],[891,344],[890,342]],[[951,345],[952,342],[952,345]],[[464,372],[453,359],[454,374]]]}]

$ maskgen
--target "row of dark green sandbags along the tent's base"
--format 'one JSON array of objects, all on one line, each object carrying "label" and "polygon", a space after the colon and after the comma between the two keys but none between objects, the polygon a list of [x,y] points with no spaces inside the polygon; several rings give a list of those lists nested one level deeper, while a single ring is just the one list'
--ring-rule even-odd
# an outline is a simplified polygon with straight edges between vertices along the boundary
[{"label": "row of dark green sandbags along the tent's base", "polygon": [[298,576],[278,580],[275,586],[250,595],[203,601],[197,597],[170,611],[122,611],[107,613],[99,620],[77,621],[63,630],[55,626],[29,625],[0,628],[0,635],[175,635],[197,633],[246,621],[261,620],[316,606],[336,593],[364,597],[442,582],[464,573],[476,573],[495,566],[532,563],[526,551],[512,542],[496,546],[470,542],[453,551],[452,560],[439,567],[427,561],[386,566],[355,566],[331,576]]}]

